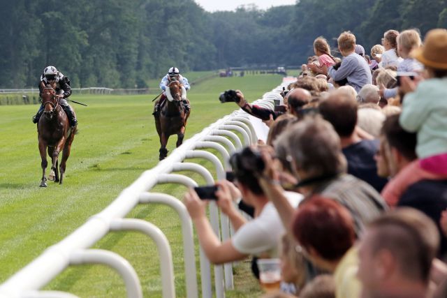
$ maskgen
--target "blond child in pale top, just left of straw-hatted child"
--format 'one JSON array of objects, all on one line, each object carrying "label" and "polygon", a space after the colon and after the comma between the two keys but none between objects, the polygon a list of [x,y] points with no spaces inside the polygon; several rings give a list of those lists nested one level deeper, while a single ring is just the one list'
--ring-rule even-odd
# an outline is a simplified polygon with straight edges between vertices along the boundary
[{"label": "blond child in pale top, just left of straw-hatted child", "polygon": [[[424,66],[416,59],[410,57],[410,52],[414,49],[418,49],[421,45],[422,40],[420,40],[419,32],[414,29],[405,30],[397,36],[397,52],[399,53],[399,56],[404,59],[399,66],[397,66],[398,75],[401,72],[421,73],[423,71]],[[398,88],[385,89],[384,86],[379,87],[381,87],[381,96],[386,99],[397,95]]]}]

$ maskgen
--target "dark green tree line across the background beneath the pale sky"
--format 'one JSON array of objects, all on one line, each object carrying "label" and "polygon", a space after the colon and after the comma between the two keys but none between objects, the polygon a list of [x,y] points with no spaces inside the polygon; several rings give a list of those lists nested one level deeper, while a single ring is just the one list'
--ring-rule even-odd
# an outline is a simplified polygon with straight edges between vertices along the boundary
[{"label": "dark green tree line across the background beneath the pale sky", "polygon": [[170,66],[300,65],[317,36],[365,47],[387,29],[447,27],[447,0],[299,0],[209,13],[193,0],[15,0],[0,10],[0,87],[35,87],[47,65],[73,87],[145,88]]}]

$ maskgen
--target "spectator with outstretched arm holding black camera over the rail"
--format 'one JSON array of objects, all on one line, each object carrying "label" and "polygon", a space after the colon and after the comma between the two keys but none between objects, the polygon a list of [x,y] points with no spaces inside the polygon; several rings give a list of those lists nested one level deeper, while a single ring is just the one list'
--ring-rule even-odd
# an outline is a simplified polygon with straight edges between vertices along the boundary
[{"label": "spectator with outstretched arm holding black camera over the rail", "polygon": [[[221,100],[221,102],[226,102],[226,101],[223,101],[223,98],[228,98],[228,96],[230,96],[230,97],[233,96],[233,98],[228,98],[227,101],[230,101],[230,100],[234,101],[235,103],[237,103],[237,105],[239,105],[242,108],[242,110],[251,114],[251,116],[262,119],[263,121],[265,121],[265,124],[267,124],[268,126],[270,126],[270,125],[267,122],[277,119],[277,117],[279,117],[281,114],[289,113],[289,114],[293,114],[293,115],[297,116],[298,110],[300,110],[300,108],[302,106],[309,103],[310,100],[312,99],[312,95],[310,94],[309,91],[307,91],[305,89],[301,89],[301,88],[292,89],[284,97],[284,104],[286,107],[286,112],[280,112],[280,111],[270,110],[268,108],[261,107],[258,105],[251,105],[250,103],[247,102],[247,100],[245,100],[244,94],[242,94],[242,91],[240,91],[240,90],[233,91],[234,94],[231,91],[233,91],[233,90],[228,90],[228,91],[224,92],[223,94],[221,94],[221,97],[219,97],[219,100]],[[228,94],[228,96],[227,96],[227,94]]]}]

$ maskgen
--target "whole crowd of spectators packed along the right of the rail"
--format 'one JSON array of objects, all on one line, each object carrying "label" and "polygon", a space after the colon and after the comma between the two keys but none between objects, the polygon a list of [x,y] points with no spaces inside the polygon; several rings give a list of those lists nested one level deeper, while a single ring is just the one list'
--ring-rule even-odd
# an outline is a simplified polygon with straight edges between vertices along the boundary
[{"label": "whole crowd of spectators packed along the right of the rail", "polygon": [[281,260],[264,297],[447,297],[447,30],[388,30],[370,56],[345,31],[323,37],[288,85],[286,112],[247,102],[268,140],[230,158],[217,206],[234,233],[220,241],[207,200],[184,196],[214,264]]}]

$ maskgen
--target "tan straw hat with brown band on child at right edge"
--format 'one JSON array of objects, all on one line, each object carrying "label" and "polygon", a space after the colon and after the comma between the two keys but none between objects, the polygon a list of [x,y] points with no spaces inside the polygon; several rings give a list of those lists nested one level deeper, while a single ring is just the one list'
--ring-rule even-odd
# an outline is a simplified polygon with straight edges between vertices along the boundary
[{"label": "tan straw hat with brown band on child at right edge", "polygon": [[411,52],[425,66],[447,70],[447,30],[432,29],[425,35],[424,45]]}]

